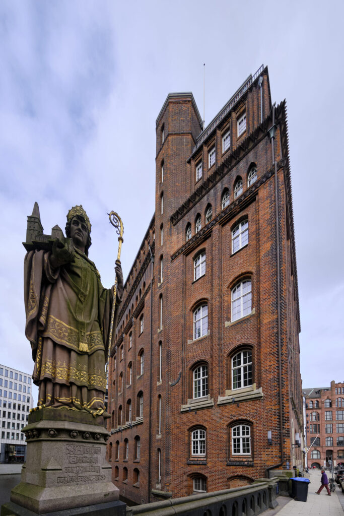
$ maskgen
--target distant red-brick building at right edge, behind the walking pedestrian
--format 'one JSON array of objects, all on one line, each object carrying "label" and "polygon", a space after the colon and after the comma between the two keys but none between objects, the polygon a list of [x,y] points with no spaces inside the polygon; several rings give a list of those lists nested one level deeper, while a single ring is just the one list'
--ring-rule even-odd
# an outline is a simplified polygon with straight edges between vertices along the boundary
[{"label": "distant red-brick building at right edge, behind the walking pedestrian", "polygon": [[344,464],[344,383],[303,389],[306,400],[308,466]]}]

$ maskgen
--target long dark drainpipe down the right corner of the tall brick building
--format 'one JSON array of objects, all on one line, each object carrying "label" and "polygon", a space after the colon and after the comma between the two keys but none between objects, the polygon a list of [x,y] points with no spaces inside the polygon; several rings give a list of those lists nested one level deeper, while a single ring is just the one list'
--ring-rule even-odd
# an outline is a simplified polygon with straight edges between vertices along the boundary
[{"label": "long dark drainpipe down the right corner of the tall brick building", "polygon": [[277,162],[275,160],[275,136],[276,136],[276,124],[275,124],[275,107],[276,103],[272,106],[272,126],[268,133],[271,141],[272,151],[272,164],[274,165],[274,177],[275,177],[275,219],[276,219],[276,269],[277,269],[277,340],[278,340],[278,353],[279,353],[279,393],[280,393],[280,440],[281,440],[281,462],[274,464],[273,466],[267,467],[266,471],[274,469],[283,465],[284,453],[283,453],[283,406],[282,406],[282,357],[281,357],[281,292],[280,292],[280,215],[279,215],[279,204],[278,204],[278,185],[277,185]]}]

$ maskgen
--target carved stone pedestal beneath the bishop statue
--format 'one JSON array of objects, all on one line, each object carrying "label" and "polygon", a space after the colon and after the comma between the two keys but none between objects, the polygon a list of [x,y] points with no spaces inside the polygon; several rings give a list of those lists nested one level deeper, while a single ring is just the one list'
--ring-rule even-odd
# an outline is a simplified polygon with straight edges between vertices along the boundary
[{"label": "carved stone pedestal beneath the bishop statue", "polygon": [[41,514],[119,499],[105,459],[103,417],[45,408],[29,415],[23,431],[26,463],[11,502]]}]

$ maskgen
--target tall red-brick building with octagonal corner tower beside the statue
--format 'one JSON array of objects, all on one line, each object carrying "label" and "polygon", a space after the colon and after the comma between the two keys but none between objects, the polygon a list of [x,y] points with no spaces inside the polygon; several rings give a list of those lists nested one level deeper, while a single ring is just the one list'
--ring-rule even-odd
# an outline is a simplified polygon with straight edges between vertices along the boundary
[{"label": "tall red-brick building with octagonal corner tower beside the statue", "polygon": [[204,130],[192,93],[167,96],[155,192],[109,366],[112,478],[138,503],[301,463],[286,105],[267,68]]}]

